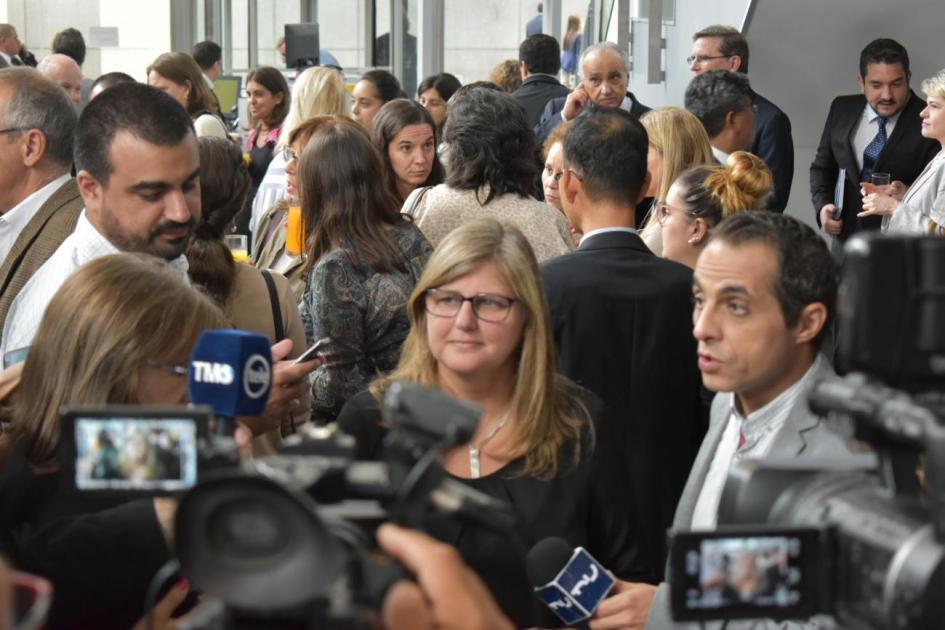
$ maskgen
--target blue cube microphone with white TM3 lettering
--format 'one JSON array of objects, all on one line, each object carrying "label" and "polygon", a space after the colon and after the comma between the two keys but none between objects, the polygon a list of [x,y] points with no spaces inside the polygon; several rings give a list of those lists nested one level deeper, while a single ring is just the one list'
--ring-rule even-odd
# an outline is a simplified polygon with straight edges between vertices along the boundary
[{"label": "blue cube microphone with white TM3 lettering", "polygon": [[207,330],[190,357],[190,400],[218,418],[258,416],[272,387],[269,340],[244,330]]}]

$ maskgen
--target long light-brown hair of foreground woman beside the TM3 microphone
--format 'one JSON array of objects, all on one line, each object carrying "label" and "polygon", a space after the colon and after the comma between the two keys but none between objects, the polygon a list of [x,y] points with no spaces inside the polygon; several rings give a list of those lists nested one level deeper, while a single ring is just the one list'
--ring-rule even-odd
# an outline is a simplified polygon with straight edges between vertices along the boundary
[{"label": "long light-brown hair of foreground woman beside the TM3 microphone", "polygon": [[133,404],[148,360],[187,359],[223,313],[166,262],[143,254],[83,265],[53,296],[23,366],[13,435],[35,465],[51,462],[64,405]]}]

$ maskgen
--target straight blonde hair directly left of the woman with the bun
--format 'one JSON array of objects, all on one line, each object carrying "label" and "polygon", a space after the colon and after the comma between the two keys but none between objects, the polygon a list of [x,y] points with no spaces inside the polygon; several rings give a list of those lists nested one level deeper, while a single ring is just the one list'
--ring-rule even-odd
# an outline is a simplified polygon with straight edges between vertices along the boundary
[{"label": "straight blonde hair directly left of the woman with the bun", "polygon": [[712,145],[699,119],[682,107],[660,107],[640,118],[650,146],[663,158],[656,198],[666,200],[669,187],[683,171],[701,164],[712,164]]}]

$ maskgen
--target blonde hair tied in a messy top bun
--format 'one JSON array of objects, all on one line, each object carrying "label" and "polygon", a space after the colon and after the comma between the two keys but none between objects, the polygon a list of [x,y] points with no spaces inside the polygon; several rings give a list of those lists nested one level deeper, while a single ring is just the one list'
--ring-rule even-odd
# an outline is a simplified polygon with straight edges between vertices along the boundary
[{"label": "blonde hair tied in a messy top bun", "polygon": [[771,194],[771,169],[747,151],[728,156],[725,166],[689,169],[676,180],[689,216],[714,227],[727,216],[760,210]]}]

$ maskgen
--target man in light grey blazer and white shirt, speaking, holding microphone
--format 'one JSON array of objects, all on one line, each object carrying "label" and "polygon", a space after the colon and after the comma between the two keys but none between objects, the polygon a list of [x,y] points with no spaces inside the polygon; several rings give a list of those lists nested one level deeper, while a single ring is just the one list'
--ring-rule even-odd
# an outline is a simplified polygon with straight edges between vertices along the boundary
[{"label": "man in light grey blazer and white shirt, speaking, holding microphone", "polygon": [[[693,334],[703,383],[719,393],[676,508],[675,529],[715,529],[728,472],[743,458],[868,457],[855,454],[807,407],[810,388],[833,374],[819,349],[837,284],[826,243],[791,217],[745,212],[713,231],[693,274]],[[665,582],[618,582],[613,593],[595,615],[600,628],[720,625],[674,623]],[[726,628],[805,626],[822,627],[751,620]]]}]

